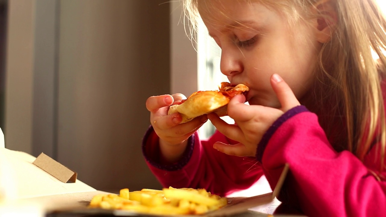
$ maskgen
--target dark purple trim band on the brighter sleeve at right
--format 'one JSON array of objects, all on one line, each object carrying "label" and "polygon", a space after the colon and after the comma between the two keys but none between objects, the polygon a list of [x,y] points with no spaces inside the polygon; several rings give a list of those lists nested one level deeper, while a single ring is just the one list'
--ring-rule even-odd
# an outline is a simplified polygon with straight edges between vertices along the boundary
[{"label": "dark purple trim band on the brighter sleeve at right", "polygon": [[296,106],[296,107],[293,107],[291,108],[290,110],[288,110],[286,113],[284,113],[283,115],[281,115],[277,120],[275,120],[275,122],[273,122],[273,124],[271,125],[271,127],[269,127],[269,129],[267,130],[267,132],[263,135],[263,137],[261,138],[261,141],[259,142],[259,144],[257,145],[257,151],[256,151],[256,158],[257,158],[257,161],[260,161],[262,160],[263,158],[263,153],[264,153],[264,150],[268,144],[268,141],[269,139],[271,139],[272,135],[274,134],[274,132],[276,132],[276,130],[288,119],[290,119],[291,117],[301,113],[301,112],[308,112],[308,109],[304,106],[304,105],[299,105],[299,106]]}]

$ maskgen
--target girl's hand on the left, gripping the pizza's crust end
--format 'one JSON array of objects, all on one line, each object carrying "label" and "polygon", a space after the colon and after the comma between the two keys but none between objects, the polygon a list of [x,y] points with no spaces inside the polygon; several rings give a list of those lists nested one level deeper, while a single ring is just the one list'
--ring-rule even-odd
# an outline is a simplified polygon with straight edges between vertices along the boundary
[{"label": "girl's hand on the left, gripping the pizza's crust end", "polygon": [[206,115],[180,124],[180,114],[168,115],[170,105],[180,104],[186,97],[177,93],[149,97],[146,108],[150,112],[150,122],[159,137],[161,153],[168,161],[176,161],[185,151],[187,139],[208,119]]}]

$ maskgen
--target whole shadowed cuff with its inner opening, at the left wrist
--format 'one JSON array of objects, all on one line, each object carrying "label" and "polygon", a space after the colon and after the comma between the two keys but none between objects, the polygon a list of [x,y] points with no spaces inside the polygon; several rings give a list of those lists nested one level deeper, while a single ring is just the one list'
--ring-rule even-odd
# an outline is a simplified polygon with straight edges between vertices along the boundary
[{"label": "whole shadowed cuff with its inner opening, at the left wrist", "polygon": [[163,163],[162,156],[159,150],[159,137],[154,132],[152,126],[147,129],[142,140],[142,153],[145,160],[151,166],[166,171],[181,170],[189,161],[193,153],[195,134],[188,138],[188,144],[182,158],[176,163]]}]

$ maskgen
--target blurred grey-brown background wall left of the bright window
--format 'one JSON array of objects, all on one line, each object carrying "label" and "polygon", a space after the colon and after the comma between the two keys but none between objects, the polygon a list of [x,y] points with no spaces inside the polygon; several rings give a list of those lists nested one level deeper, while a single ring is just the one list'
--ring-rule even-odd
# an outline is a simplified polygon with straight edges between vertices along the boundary
[{"label": "blurred grey-brown background wall left of the bright window", "polygon": [[[3,0],[2,5],[7,8],[5,146],[34,156],[44,152],[99,190],[160,188],[141,152],[150,124],[146,99],[171,89],[196,91],[196,53],[183,25],[177,34],[185,36],[178,42],[184,45],[171,42],[181,11],[171,14],[179,2]],[[190,58],[176,54],[183,49]],[[177,63],[173,55],[191,61]],[[181,70],[192,72],[191,86],[183,87]]]}]

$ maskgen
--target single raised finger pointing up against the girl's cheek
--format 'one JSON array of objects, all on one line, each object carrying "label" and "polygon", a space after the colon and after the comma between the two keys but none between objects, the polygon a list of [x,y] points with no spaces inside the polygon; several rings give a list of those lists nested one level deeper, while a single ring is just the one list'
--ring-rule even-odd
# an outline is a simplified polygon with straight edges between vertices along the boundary
[{"label": "single raised finger pointing up against the girl's cheek", "polygon": [[278,74],[273,74],[271,76],[271,85],[278,96],[279,102],[281,103],[281,110],[283,112],[300,105],[291,88]]}]

